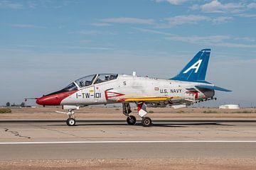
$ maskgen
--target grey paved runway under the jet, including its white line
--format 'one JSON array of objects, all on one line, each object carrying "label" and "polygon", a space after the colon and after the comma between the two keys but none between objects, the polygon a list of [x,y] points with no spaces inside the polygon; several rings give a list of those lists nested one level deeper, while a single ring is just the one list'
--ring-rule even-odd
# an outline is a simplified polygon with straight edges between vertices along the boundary
[{"label": "grey paved runway under the jet, including its white line", "polygon": [[1,120],[0,137],[0,160],[256,158],[255,120]]}]

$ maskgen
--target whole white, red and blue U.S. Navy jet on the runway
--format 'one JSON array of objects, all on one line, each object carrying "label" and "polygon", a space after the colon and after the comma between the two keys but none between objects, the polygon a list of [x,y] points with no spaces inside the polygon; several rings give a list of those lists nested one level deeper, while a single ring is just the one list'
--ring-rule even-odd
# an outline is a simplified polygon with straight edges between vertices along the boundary
[{"label": "whole white, red and blue U.S. Navy jet on the runway", "polygon": [[199,51],[175,77],[158,79],[139,77],[136,74],[92,74],[73,81],[60,91],[41,98],[36,103],[43,106],[62,106],[68,109],[67,125],[75,125],[76,109],[89,105],[122,103],[127,123],[134,125],[136,118],[129,103],[135,103],[143,126],[150,126],[146,117],[146,104],[170,105],[174,108],[190,106],[193,103],[214,98],[215,90],[229,91],[205,80],[210,49]]}]

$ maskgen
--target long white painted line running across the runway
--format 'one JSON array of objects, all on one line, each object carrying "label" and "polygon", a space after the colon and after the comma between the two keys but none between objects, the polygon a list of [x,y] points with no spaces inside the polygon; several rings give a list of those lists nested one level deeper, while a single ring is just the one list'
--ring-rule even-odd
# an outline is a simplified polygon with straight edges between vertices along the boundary
[{"label": "long white painted line running across the runway", "polygon": [[0,145],[35,144],[105,144],[105,143],[256,143],[256,140],[104,140],[104,141],[38,141],[38,142],[0,142]]}]

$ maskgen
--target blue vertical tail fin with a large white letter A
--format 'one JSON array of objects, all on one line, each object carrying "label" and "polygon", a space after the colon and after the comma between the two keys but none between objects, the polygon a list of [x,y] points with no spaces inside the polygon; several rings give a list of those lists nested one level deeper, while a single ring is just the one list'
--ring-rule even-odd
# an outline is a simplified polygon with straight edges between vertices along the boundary
[{"label": "blue vertical tail fin with a large white letter A", "polygon": [[209,57],[210,49],[203,49],[199,51],[195,57],[186,64],[186,67],[184,67],[176,77],[171,79],[208,83],[205,79]]}]

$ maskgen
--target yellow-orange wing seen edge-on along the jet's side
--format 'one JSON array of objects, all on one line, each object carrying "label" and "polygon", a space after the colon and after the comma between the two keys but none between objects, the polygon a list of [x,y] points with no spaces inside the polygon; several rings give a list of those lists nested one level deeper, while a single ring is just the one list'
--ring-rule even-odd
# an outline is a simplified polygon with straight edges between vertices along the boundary
[{"label": "yellow-orange wing seen edge-on along the jet's side", "polygon": [[180,96],[166,96],[166,97],[142,97],[142,98],[119,98],[117,99],[117,102],[134,102],[134,101],[168,101],[172,98],[181,98]]}]

